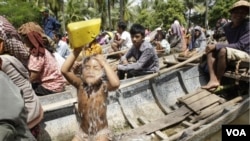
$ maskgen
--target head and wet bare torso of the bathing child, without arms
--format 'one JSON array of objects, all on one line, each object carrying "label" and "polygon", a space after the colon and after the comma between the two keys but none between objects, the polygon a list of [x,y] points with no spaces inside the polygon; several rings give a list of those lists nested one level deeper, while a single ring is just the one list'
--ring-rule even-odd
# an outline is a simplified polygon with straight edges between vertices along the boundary
[{"label": "head and wet bare torso of the bathing child, without arms", "polygon": [[103,68],[95,60],[89,60],[83,68],[83,85],[78,91],[78,111],[82,130],[95,135],[108,127],[106,118],[107,85],[102,81]]}]

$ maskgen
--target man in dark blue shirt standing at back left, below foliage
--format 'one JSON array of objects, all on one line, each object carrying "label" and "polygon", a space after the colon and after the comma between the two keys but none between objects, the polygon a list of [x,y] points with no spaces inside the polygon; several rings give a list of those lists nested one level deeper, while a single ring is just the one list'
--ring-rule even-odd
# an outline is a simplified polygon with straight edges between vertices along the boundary
[{"label": "man in dark blue shirt standing at back left, below foliage", "polygon": [[45,34],[48,35],[52,39],[54,36],[54,32],[59,31],[61,24],[54,17],[49,15],[48,8],[43,8],[41,12],[43,14],[43,19],[42,19],[43,30]]}]

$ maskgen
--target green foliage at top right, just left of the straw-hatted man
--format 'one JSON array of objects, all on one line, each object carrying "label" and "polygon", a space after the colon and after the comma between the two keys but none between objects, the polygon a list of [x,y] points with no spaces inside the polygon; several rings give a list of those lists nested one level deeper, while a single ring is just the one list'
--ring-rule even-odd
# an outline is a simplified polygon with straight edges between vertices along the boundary
[{"label": "green foliage at top right, just left of the straw-hatted man", "polygon": [[212,28],[215,27],[217,20],[221,18],[230,19],[228,10],[236,1],[237,0],[217,0],[209,11],[209,26]]}]

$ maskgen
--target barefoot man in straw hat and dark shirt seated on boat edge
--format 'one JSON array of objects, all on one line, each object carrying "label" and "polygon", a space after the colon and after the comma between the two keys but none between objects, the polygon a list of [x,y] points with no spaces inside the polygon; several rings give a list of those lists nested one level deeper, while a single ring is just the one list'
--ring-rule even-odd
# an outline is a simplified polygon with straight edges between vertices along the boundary
[{"label": "barefoot man in straw hat and dark shirt seated on boat edge", "polygon": [[250,3],[247,1],[241,0],[234,3],[229,9],[231,22],[223,27],[228,43],[218,42],[207,45],[206,54],[210,80],[202,88],[211,90],[220,86],[228,60],[250,59],[249,19],[246,18],[249,10]]}]

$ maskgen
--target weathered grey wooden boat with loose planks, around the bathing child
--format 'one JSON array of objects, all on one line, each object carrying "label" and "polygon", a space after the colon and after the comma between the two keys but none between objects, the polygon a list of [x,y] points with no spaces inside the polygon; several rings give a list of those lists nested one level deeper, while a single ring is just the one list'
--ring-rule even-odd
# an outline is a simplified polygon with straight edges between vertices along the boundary
[{"label": "weathered grey wooden boat with loose planks, around the bathing child", "polygon": [[[224,77],[223,86],[230,87],[209,92],[200,89],[208,75],[198,65],[181,67],[190,61],[122,80],[119,90],[110,92],[107,117],[115,141],[202,141],[249,109],[249,75]],[[76,90],[68,87],[40,100],[45,117],[39,141],[71,140],[78,130]]]}]

